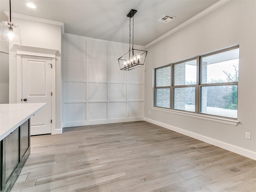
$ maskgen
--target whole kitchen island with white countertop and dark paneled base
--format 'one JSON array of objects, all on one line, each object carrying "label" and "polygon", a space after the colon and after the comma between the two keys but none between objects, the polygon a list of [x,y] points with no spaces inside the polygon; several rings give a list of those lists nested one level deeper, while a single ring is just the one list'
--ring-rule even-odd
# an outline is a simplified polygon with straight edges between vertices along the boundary
[{"label": "whole kitchen island with white countertop and dark paneled base", "polygon": [[30,118],[46,103],[0,104],[0,192],[9,192],[30,154]]}]

